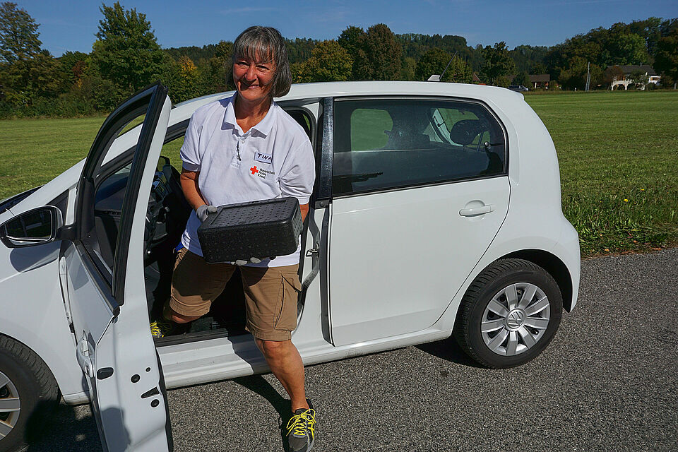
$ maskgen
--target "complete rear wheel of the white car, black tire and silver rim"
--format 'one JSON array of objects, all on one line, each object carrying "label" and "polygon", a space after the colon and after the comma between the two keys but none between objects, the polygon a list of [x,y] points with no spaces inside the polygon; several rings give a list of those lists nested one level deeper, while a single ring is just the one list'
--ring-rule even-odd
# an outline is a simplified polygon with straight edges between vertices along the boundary
[{"label": "complete rear wheel of the white car, black tire and silver rim", "polygon": [[562,311],[560,289],[546,270],[523,259],[500,259],[466,291],[455,337],[485,367],[519,366],[549,345]]}]

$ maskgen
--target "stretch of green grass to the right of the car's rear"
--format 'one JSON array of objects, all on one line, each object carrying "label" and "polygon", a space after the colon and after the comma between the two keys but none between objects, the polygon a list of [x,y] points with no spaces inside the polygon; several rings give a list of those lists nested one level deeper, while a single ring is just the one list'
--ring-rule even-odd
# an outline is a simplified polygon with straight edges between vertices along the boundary
[{"label": "stretch of green grass to the right of the car's rear", "polygon": [[525,100],[556,145],[584,255],[678,243],[678,91]]}]

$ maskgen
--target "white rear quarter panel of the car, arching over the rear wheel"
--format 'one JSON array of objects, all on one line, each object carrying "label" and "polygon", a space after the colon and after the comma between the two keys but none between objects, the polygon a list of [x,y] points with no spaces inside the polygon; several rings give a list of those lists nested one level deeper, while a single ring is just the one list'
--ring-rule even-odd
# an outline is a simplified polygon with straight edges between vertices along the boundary
[{"label": "white rear quarter panel of the car, arching over the rear wheel", "polygon": [[453,328],[465,291],[485,267],[502,256],[527,249],[547,251],[566,265],[573,286],[571,306],[576,304],[581,271],[579,242],[561,208],[556,149],[541,119],[527,103],[513,103],[510,107],[507,111],[493,106],[509,133],[509,212],[489,249],[436,323],[440,328]]}]

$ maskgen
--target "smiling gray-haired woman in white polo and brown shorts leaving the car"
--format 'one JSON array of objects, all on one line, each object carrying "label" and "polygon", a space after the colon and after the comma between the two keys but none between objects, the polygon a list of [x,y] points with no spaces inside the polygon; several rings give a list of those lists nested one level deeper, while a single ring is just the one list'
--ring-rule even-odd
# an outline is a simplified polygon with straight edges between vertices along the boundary
[{"label": "smiling gray-haired woman in white polo and brown shorts leaving the car", "polygon": [[[232,64],[236,93],[197,109],[186,130],[181,184],[194,212],[182,236],[184,249],[174,266],[164,319],[152,328],[156,337],[167,334],[173,323],[206,314],[236,268],[202,258],[196,231],[216,211],[214,206],[295,196],[302,219],[309,211],[315,177],[311,143],[304,129],[273,102],[290,90],[285,40],[274,28],[248,28],[233,44]],[[301,287],[299,249],[273,260],[252,256],[236,264],[241,266],[246,328],[291,399],[290,449],[309,451],[315,412],[309,408],[304,365],[291,340]]]}]

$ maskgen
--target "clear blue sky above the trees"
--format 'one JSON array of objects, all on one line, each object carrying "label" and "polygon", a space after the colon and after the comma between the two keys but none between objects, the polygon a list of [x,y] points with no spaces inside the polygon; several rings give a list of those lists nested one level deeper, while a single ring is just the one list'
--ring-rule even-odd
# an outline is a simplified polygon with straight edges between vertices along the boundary
[{"label": "clear blue sky above the trees", "polygon": [[[59,57],[89,53],[103,17],[100,1],[13,0],[40,24],[42,47]],[[114,1],[104,2],[111,6]],[[592,28],[651,16],[678,17],[678,0],[424,0],[215,1],[121,0],[145,13],[163,48],[232,41],[250,25],[278,28],[284,37],[335,39],[348,25],[385,23],[395,33],[460,35],[469,45],[504,41],[551,46]]]}]

